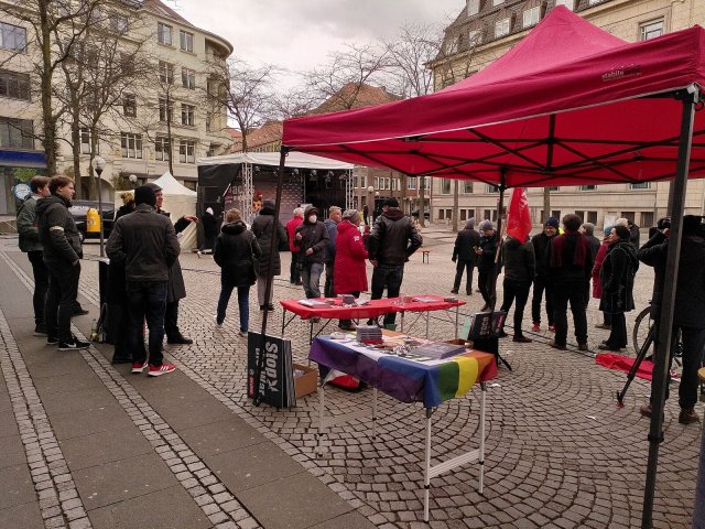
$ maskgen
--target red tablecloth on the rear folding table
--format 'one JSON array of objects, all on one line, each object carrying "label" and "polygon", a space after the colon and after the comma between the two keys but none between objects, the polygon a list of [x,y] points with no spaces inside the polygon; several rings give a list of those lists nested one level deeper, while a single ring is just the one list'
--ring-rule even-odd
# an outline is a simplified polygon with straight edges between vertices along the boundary
[{"label": "red tablecloth on the rear folding table", "polygon": [[[322,317],[326,320],[365,320],[369,317],[378,317],[382,314],[389,314],[392,312],[445,311],[447,309],[454,309],[466,304],[464,301],[459,300],[448,302],[443,301],[442,296],[425,294],[411,298],[437,298],[437,301],[412,301],[409,303],[399,303],[399,298],[384,298],[381,300],[372,300],[369,305],[344,306],[340,298],[334,298],[333,300],[336,303],[335,305],[323,307],[305,306],[299,303],[299,300],[283,300],[281,304],[286,311],[293,312],[303,320],[308,320],[311,317]],[[325,300],[325,298],[319,298],[317,301]]]}]

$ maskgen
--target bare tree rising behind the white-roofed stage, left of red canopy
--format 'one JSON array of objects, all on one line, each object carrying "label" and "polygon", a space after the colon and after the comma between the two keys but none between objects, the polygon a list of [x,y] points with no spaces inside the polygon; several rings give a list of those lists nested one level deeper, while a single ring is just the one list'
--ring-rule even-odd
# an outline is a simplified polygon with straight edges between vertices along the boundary
[{"label": "bare tree rising behind the white-roofed stage, left of red canopy", "polygon": [[242,151],[248,150],[249,133],[281,115],[274,94],[280,68],[272,65],[253,67],[241,58],[230,58],[224,67],[209,73],[207,98],[225,105],[242,134]]}]

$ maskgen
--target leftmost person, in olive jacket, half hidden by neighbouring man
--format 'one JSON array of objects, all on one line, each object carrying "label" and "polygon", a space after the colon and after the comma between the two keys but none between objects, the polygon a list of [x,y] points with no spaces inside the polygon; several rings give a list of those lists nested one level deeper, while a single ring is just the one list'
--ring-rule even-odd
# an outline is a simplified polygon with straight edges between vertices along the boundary
[{"label": "leftmost person, in olive jacket, half hidden by neighbouring man", "polygon": [[50,180],[47,176],[33,176],[32,180],[30,180],[31,194],[24,199],[18,210],[20,250],[24,251],[30,259],[32,263],[32,274],[34,276],[32,304],[34,306],[34,334],[37,336],[46,334],[44,304],[46,303],[46,292],[48,291],[48,271],[44,264],[42,242],[40,242],[40,230],[36,227],[36,201],[50,195]]}]

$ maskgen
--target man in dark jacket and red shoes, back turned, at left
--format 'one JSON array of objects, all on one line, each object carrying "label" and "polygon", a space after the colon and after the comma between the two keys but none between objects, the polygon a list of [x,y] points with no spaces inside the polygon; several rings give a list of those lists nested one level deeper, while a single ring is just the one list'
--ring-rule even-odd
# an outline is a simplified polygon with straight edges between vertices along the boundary
[{"label": "man in dark jacket and red shoes, back turned, at left", "polygon": [[169,218],[155,212],[154,191],[142,185],[134,191],[134,213],[120,217],[108,238],[111,261],[124,266],[128,295],[128,333],[132,352],[132,373],[148,367],[141,347],[142,324],[149,327],[149,375],[159,377],[175,369],[163,361],[164,312],[169,270],[181,247]]}]

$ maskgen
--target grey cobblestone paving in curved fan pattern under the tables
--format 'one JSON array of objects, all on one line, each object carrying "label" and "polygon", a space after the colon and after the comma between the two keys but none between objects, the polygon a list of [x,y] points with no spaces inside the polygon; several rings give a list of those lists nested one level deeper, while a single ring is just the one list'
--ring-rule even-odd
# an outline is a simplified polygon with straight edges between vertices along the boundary
[{"label": "grey cobblestone paving in curved fan pattern under the tables", "polygon": [[[431,262],[422,263],[420,255],[413,256],[405,268],[402,290],[408,294],[447,293],[455,270],[448,244],[453,237],[432,231],[424,236],[425,246],[433,246]],[[17,241],[3,240],[0,247],[11,252],[17,251],[15,245]],[[97,253],[95,246],[87,250]],[[283,270],[288,270],[288,259],[283,255]],[[237,303],[230,304],[225,328],[216,330],[217,267],[209,258],[197,259],[194,255],[184,255],[181,260],[188,298],[182,302],[180,325],[194,344],[167,346],[167,355],[180,369],[378,527],[427,527],[422,521],[423,408],[380,395],[377,439],[371,440],[370,422],[366,420],[334,427],[326,435],[324,456],[316,458],[315,395],[300,399],[299,406],[290,410],[253,407],[246,397],[247,338],[237,334]],[[652,278],[651,270],[642,267],[636,288],[638,307],[648,303]],[[86,263],[82,294],[95,302],[95,292],[97,266]],[[300,288],[278,278],[275,300],[301,296]],[[482,304],[477,293],[463,299],[468,302],[464,314]],[[253,291],[251,306],[257,307]],[[281,330],[281,315],[278,307],[270,319],[273,334]],[[631,313],[631,319],[634,315]],[[600,319],[593,300],[588,342],[595,349],[607,337],[605,331],[594,328]],[[443,314],[432,315],[432,337],[452,336],[453,323],[454,319]],[[253,310],[250,328],[259,325],[260,313]],[[524,328],[530,328],[530,314]],[[425,327],[417,323],[415,328],[405,331],[423,334]],[[513,370],[500,369],[496,384],[490,385],[484,494],[477,492],[477,467],[473,465],[434,478],[430,526],[639,527],[649,423],[638,408],[648,399],[648,384],[637,379],[626,406],[619,409],[615,391],[625,381],[622,374],[596,366],[593,353],[579,353],[575,347],[567,352],[551,349],[546,345],[551,337],[547,332],[525,334],[534,342],[501,342],[502,355]],[[305,363],[307,324],[294,322],[288,327],[286,337],[292,339],[295,361]],[[90,358],[86,360],[90,363]],[[6,365],[2,368],[4,373]],[[110,366],[101,368],[109,370]],[[105,381],[119,389],[118,380]],[[326,391],[327,411],[338,414],[358,410],[370,403],[370,397],[371,391],[348,393],[333,389]],[[435,462],[476,446],[477,397],[476,389],[436,410]],[[671,399],[659,458],[655,527],[685,528],[692,520],[701,428],[679,424],[677,410],[676,399]],[[702,414],[703,404],[696,410]],[[160,432],[169,424],[152,427]],[[154,439],[158,438],[162,439],[163,432]]]}]

